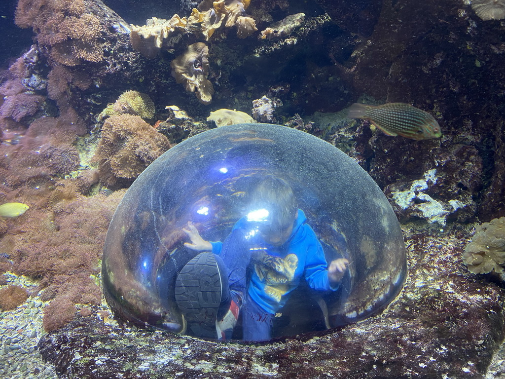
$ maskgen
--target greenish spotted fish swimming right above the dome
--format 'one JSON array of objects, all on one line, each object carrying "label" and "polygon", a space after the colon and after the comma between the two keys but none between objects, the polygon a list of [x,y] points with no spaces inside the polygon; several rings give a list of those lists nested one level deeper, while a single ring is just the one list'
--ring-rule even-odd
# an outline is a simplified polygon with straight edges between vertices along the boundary
[{"label": "greenish spotted fish swimming right above the dome", "polygon": [[387,135],[401,135],[412,139],[440,138],[440,125],[428,112],[405,103],[387,103],[379,106],[352,104],[349,118],[369,120]]}]

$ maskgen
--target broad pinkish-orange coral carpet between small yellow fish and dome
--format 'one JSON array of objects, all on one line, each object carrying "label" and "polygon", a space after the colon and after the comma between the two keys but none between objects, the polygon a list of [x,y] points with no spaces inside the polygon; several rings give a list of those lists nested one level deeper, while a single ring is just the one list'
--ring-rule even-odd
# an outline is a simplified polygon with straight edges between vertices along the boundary
[{"label": "broad pinkish-orange coral carpet between small yellow fish and dome", "polygon": [[100,303],[99,257],[109,222],[124,195],[117,191],[85,197],[79,192],[79,182],[78,178],[39,181],[37,186],[22,186],[9,194],[26,199],[30,212],[16,223],[9,222],[8,232],[0,236],[0,251],[9,257],[0,260],[0,267],[37,279],[40,289],[45,288],[42,299],[53,299],[44,309],[47,330],[70,320],[74,304]]}]

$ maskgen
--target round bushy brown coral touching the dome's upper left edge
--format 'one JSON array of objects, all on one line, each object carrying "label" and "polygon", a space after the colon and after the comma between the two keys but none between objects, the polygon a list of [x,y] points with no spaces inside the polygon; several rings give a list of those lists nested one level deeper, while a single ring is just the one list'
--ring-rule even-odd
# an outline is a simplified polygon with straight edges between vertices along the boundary
[{"label": "round bushy brown coral touching the dome's upper left edge", "polygon": [[98,162],[100,181],[117,188],[131,184],[168,149],[167,137],[139,116],[114,115],[104,123],[93,159]]}]

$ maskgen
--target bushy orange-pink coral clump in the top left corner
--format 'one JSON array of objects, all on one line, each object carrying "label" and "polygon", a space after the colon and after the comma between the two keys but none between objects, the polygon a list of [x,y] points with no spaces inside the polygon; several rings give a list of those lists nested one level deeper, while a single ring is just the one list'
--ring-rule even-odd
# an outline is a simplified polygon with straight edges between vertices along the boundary
[{"label": "bushy orange-pink coral clump in the top left corner", "polygon": [[15,21],[22,28],[32,27],[38,43],[59,64],[76,66],[104,58],[100,20],[86,13],[83,0],[20,0]]}]

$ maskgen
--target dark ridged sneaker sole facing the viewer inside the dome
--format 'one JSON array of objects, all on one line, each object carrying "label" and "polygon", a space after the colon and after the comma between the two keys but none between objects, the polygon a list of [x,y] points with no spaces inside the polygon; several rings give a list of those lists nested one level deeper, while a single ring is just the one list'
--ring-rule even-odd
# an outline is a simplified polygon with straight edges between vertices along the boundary
[{"label": "dark ridged sneaker sole facing the viewer inside the dome", "polygon": [[213,253],[198,254],[177,275],[175,301],[194,336],[216,338],[222,288],[221,272]]}]

